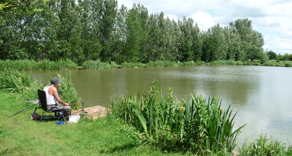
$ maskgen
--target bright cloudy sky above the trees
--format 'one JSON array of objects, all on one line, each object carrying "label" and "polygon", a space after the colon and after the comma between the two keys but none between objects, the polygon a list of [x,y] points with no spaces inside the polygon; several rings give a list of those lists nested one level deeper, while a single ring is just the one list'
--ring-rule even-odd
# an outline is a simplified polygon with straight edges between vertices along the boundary
[{"label": "bright cloudy sky above the trees", "polygon": [[[192,18],[206,31],[219,23],[226,26],[241,18],[252,20],[252,28],[262,33],[264,50],[292,54],[292,0],[117,0],[128,9],[140,3],[148,13],[165,14],[165,18]],[[195,24],[195,23],[194,23]]]}]

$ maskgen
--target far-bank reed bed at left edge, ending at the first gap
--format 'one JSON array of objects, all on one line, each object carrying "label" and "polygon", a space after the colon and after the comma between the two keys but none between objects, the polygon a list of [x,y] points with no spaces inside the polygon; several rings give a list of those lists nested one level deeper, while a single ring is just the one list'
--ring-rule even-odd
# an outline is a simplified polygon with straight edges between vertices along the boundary
[{"label": "far-bank reed bed at left edge, ending at the first gap", "polygon": [[15,70],[46,70],[46,69],[76,69],[77,64],[69,59],[59,59],[58,61],[34,60],[0,60],[0,71],[5,69]]}]

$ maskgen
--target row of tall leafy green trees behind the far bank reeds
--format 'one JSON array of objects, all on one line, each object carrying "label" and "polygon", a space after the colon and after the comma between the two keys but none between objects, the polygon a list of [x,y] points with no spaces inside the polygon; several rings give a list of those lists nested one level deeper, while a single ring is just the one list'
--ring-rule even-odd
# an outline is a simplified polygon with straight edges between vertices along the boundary
[{"label": "row of tall leafy green trees behind the far bank reeds", "polygon": [[[16,11],[19,7],[24,11]],[[171,20],[163,12],[148,13],[142,4],[118,8],[116,0],[29,0],[19,7],[0,8],[2,60],[69,58],[81,64],[268,57],[262,34],[247,18],[202,31],[191,18]]]}]

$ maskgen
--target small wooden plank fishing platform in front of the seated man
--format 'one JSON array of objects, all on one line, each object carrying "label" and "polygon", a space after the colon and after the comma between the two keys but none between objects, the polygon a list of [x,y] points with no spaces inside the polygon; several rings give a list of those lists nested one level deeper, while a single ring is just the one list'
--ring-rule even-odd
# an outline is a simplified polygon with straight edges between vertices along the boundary
[{"label": "small wooden plank fishing platform in front of the seated man", "polygon": [[[75,110],[74,112],[78,112],[78,111],[80,110]],[[95,120],[99,117],[105,116],[106,113],[109,111],[109,109],[102,106],[94,106],[94,107],[85,108],[84,111],[88,113],[88,118],[92,118],[93,120]],[[71,114],[73,114],[74,112],[72,112]],[[79,113],[80,112],[74,115],[79,115]]]}]

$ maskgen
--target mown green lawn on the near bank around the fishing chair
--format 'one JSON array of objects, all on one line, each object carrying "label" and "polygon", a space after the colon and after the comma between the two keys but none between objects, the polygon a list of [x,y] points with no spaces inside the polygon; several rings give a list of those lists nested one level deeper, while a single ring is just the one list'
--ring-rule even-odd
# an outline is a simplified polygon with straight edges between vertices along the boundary
[{"label": "mown green lawn on the near bank around the fishing chair", "polygon": [[68,126],[56,125],[53,119],[39,125],[29,118],[35,106],[8,117],[33,105],[22,103],[26,100],[23,95],[0,90],[0,99],[0,155],[182,155],[164,154],[150,145],[140,147],[120,133],[121,121],[113,117],[81,120]]}]

